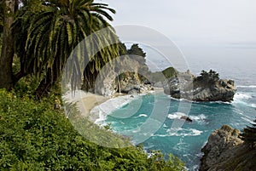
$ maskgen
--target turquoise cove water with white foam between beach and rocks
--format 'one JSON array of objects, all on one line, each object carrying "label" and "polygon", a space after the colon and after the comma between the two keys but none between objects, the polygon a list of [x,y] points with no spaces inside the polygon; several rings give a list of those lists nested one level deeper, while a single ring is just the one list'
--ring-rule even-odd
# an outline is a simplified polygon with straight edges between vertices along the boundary
[{"label": "turquoise cove water with white foam between beach and rocks", "polygon": [[[140,104],[140,105],[137,105]],[[139,107],[137,107],[139,106]],[[192,123],[179,118],[187,115]],[[130,136],[135,143],[143,143],[145,149],[161,150],[167,156],[172,153],[186,162],[189,170],[197,170],[201,148],[213,130],[223,124],[244,128],[256,116],[256,86],[239,86],[231,103],[174,100],[163,93],[138,96],[129,104],[108,115],[113,131]],[[125,113],[129,113],[125,117]],[[124,116],[120,118],[119,116]]]}]

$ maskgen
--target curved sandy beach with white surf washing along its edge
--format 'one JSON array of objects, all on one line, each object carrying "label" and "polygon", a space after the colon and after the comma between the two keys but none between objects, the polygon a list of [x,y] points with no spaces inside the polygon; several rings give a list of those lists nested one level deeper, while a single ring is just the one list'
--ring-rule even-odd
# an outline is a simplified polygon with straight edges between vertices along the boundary
[{"label": "curved sandy beach with white surf washing along its edge", "polygon": [[145,91],[141,94],[119,94],[113,96],[102,96],[83,90],[76,90],[73,96],[71,92],[62,96],[68,103],[76,103],[77,108],[83,117],[87,117],[90,122],[100,124],[106,119],[108,114],[129,104],[132,100],[145,94],[155,94],[163,92],[163,88],[154,88],[152,91]]}]

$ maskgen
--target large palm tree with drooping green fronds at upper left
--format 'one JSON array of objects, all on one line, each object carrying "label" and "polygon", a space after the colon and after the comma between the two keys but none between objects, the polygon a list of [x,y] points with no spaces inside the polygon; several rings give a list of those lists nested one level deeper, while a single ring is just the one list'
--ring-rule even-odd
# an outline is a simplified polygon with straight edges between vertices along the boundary
[{"label": "large palm tree with drooping green fronds at upper left", "polygon": [[[115,13],[107,4],[93,3],[93,0],[49,0],[37,11],[23,9],[14,25],[14,31],[21,33],[15,38],[15,49],[20,56],[20,75],[44,75],[36,91],[38,96],[47,94],[59,82],[68,57],[79,42],[102,28],[111,27],[107,20],[113,18],[107,11]],[[113,29],[108,29],[108,37],[118,42]],[[90,48],[83,47],[87,47],[84,55],[90,54],[90,49],[98,43],[108,41],[108,37],[96,37]],[[118,51],[117,44],[100,50],[90,60],[90,72],[100,70]],[[76,59],[74,67],[79,65],[79,58]]]}]

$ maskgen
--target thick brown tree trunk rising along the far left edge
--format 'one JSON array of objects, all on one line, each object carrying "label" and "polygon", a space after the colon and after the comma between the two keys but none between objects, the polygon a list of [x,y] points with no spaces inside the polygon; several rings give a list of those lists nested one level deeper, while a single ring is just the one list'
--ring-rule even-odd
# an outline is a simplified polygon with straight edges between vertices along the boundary
[{"label": "thick brown tree trunk rising along the far left edge", "polygon": [[3,20],[3,44],[0,57],[0,88],[11,89],[13,83],[13,57],[14,42],[11,34],[11,25],[15,14],[15,0],[4,1],[4,20]]}]

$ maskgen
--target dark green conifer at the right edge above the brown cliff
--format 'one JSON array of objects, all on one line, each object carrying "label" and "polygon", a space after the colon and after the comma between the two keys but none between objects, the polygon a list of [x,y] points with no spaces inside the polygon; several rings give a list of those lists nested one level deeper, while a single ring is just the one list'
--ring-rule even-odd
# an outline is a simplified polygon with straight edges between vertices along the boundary
[{"label": "dark green conifer at the right edge above the brown cliff", "polygon": [[252,127],[247,126],[247,128],[243,128],[240,135],[241,140],[254,147],[256,143],[256,119],[253,121]]}]

